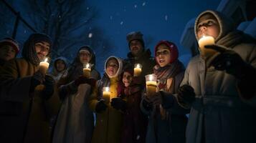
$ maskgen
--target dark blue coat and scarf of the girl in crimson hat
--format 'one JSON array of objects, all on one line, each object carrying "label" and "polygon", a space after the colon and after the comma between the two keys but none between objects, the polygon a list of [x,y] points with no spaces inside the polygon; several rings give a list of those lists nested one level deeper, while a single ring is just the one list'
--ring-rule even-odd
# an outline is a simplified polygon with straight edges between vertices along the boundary
[{"label": "dark blue coat and scarf of the girl in crimson hat", "polygon": [[[156,67],[159,68],[158,65],[154,68]],[[142,111],[149,115],[147,143],[181,143],[186,140],[186,114],[189,113],[189,110],[180,107],[175,96],[184,77],[184,66],[176,60],[166,70],[166,75],[161,77],[161,71],[159,74],[157,74],[157,71],[154,72],[158,75],[158,89],[163,101],[161,107],[153,107],[153,110],[148,111],[141,106]]]}]

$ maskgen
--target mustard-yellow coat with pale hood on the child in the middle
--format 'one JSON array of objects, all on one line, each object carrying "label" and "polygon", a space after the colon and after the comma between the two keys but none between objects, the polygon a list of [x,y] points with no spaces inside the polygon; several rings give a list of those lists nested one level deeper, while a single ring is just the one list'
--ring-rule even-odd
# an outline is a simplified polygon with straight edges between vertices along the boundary
[{"label": "mustard-yellow coat with pale hood on the child in the middle", "polygon": [[[122,69],[122,61],[118,59],[118,63],[119,69],[117,72],[117,77],[109,78],[107,74],[104,74],[103,78],[97,82],[96,88],[94,89],[93,94],[91,95],[89,100],[89,106],[90,109],[93,110],[93,112],[95,112],[95,107],[98,104],[99,100],[103,98],[103,87],[110,88],[110,101],[111,98],[118,97],[117,89],[120,71]],[[105,104],[107,104],[108,106],[105,111],[96,113],[96,124],[93,131],[92,143],[120,143],[123,113],[111,107],[110,102]]]}]

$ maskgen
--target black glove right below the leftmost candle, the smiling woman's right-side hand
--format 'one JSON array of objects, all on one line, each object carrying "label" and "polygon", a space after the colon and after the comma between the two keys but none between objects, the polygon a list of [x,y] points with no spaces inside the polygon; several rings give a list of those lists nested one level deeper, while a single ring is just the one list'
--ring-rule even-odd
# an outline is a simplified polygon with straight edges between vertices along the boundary
[{"label": "black glove right below the leftmost candle, the smiling woman's right-side hand", "polygon": [[42,91],[42,98],[47,100],[52,97],[54,92],[54,79],[49,75],[46,75],[44,79],[45,81],[43,83],[44,90]]}]

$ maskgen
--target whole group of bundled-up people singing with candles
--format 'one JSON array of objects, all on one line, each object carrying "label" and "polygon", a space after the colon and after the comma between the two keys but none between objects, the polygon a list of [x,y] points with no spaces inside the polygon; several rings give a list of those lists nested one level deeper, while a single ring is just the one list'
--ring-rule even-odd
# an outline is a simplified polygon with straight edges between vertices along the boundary
[{"label": "whole group of bundled-up people singing with candles", "polygon": [[[49,36],[31,34],[21,58],[14,39],[1,40],[0,142],[256,142],[256,40],[210,10],[199,14],[194,32],[197,40],[214,37],[205,46],[214,51],[211,58],[199,49],[185,68],[176,44],[166,40],[152,57],[143,34],[134,31],[126,36],[127,59],[108,57],[103,77],[90,46],[81,46],[70,65],[55,59],[45,74],[39,63],[50,55]],[[87,63],[90,77],[83,75]],[[142,65],[140,75],[134,64]],[[147,74],[157,78],[150,96]]]}]

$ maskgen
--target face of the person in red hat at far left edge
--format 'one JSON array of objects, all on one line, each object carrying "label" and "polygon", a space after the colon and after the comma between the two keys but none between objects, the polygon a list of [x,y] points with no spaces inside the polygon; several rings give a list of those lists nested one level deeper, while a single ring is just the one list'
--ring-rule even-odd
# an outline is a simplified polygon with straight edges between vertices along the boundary
[{"label": "face of the person in red hat at far left edge", "polygon": [[4,61],[9,61],[10,59],[14,59],[16,51],[12,46],[4,45],[0,48],[0,59]]}]

